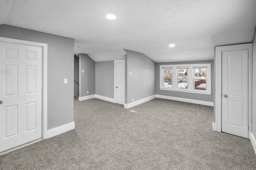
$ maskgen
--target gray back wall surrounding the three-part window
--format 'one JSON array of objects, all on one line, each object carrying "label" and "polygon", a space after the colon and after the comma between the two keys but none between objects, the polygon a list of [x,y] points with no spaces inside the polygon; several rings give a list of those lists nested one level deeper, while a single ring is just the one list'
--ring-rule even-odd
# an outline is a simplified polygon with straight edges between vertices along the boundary
[{"label": "gray back wall surrounding the three-part window", "polygon": [[[211,95],[205,95],[205,94],[194,94],[194,93],[185,93],[185,92],[174,92],[174,91],[167,91],[167,90],[160,90],[160,65],[165,64],[202,64],[202,63],[210,63],[211,64]],[[186,98],[186,99],[193,99],[193,100],[202,100],[206,102],[213,102],[213,72],[214,70],[214,61],[208,60],[208,61],[188,61],[188,62],[172,62],[172,63],[156,63],[156,94],[164,95],[164,96],[172,96],[177,98]]]}]

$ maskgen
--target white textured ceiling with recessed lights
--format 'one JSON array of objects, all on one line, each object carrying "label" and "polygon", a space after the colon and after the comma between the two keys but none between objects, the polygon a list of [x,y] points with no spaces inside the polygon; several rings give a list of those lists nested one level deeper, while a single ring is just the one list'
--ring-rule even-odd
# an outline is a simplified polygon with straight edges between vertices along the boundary
[{"label": "white textured ceiling with recessed lights", "polygon": [[214,46],[252,42],[256,0],[1,0],[0,24],[74,38],[86,46],[74,53],[94,61],[124,59],[123,49],[156,62],[212,60]]}]

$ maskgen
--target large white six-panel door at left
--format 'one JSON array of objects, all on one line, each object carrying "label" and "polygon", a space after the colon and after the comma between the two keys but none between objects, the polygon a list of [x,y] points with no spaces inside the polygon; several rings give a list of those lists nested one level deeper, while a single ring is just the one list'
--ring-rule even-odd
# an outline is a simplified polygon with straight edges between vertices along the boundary
[{"label": "large white six-panel door at left", "polygon": [[42,137],[42,48],[0,42],[0,152]]}]

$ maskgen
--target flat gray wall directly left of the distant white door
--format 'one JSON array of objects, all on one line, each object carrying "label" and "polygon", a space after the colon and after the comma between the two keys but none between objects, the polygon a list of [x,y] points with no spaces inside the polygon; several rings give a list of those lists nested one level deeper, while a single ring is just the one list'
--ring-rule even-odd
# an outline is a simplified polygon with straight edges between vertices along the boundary
[{"label": "flat gray wall directly left of the distant white door", "polygon": [[96,62],[96,94],[114,99],[114,61]]}]

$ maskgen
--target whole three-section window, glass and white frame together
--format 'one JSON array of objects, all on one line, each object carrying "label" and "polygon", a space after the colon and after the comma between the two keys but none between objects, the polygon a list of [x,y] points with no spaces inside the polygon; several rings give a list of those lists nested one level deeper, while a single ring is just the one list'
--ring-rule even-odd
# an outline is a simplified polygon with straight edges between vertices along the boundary
[{"label": "whole three-section window, glass and white frame together", "polygon": [[211,94],[211,64],[160,65],[160,90]]}]

